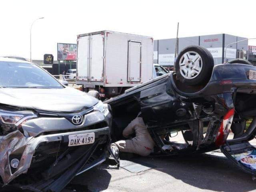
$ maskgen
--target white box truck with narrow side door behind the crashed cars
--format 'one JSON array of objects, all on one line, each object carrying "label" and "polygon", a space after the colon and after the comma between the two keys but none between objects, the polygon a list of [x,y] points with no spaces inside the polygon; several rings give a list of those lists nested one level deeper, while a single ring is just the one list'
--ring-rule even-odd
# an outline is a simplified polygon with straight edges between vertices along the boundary
[{"label": "white box truck with narrow side door behind the crashed cars", "polygon": [[77,83],[101,98],[151,80],[153,38],[113,31],[77,36]]}]

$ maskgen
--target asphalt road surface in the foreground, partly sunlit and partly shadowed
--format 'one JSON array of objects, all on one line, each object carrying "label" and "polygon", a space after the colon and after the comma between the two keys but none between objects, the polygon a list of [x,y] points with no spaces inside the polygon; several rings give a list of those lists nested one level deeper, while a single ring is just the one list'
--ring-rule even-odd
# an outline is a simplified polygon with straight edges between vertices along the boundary
[{"label": "asphalt road surface in the foreground, partly sunlit and partly shadowed", "polygon": [[256,181],[242,172],[221,152],[188,157],[140,158],[157,168],[130,173],[102,164],[77,176],[72,184],[88,192],[249,192],[256,191]]}]

